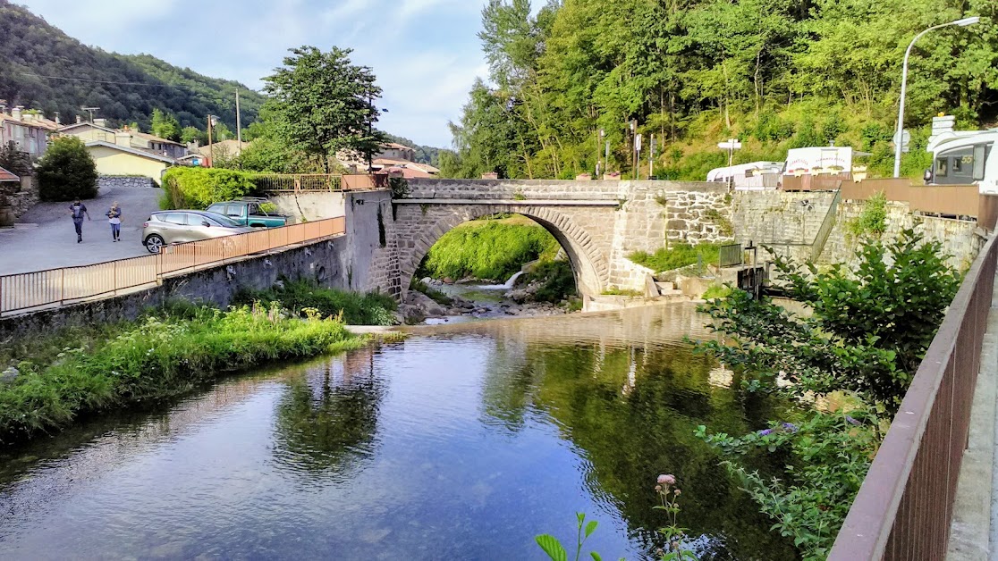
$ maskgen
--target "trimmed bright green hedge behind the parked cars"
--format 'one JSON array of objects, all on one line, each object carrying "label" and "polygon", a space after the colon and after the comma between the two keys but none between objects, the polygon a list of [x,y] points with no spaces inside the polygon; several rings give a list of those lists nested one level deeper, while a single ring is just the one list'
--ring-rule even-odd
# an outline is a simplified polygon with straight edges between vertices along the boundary
[{"label": "trimmed bright green hedge behind the parked cars", "polygon": [[213,202],[256,194],[253,174],[235,169],[171,167],[163,176],[160,207],[204,210]]}]

